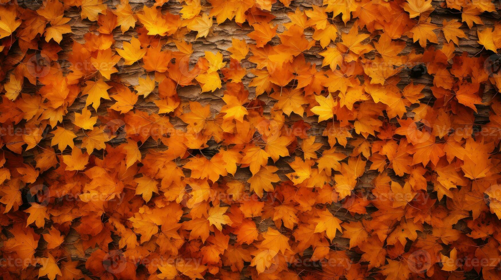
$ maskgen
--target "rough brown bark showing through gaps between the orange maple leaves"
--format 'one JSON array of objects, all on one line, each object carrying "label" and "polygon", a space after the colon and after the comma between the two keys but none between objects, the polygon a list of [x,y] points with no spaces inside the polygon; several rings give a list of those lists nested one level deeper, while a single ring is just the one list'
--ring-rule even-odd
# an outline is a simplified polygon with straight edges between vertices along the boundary
[{"label": "rough brown bark showing through gaps between the orange maple leaves", "polygon": [[[445,9],[441,8],[440,4],[443,1],[433,1],[433,5],[436,7],[433,13],[431,14],[432,17],[432,23],[441,25],[442,21],[444,19],[446,20],[451,20],[451,19],[458,19],[461,21],[461,13],[460,12],[451,12],[450,9]],[[117,4],[117,0],[111,0],[106,2],[110,7],[113,7],[115,4]],[[142,9],[142,6],[144,4],[151,6],[154,2],[152,0],[131,0],[130,1],[132,9],[134,11],[138,11]],[[40,5],[39,2],[36,1],[25,1],[22,3],[24,6],[31,8],[31,9],[37,9]],[[500,5],[499,3],[495,3],[496,8],[499,8]],[[162,9],[169,11],[171,13],[178,13],[179,10],[181,9],[181,3],[176,1],[176,0],[170,0],[167,4],[164,4]],[[208,2],[202,1],[202,6],[209,6],[210,4]],[[290,7],[285,7],[282,3],[277,2],[273,5],[273,10],[272,13],[276,16],[274,20],[272,20],[273,24],[278,24],[279,27],[277,29],[277,32],[280,33],[282,32],[285,27],[283,26],[283,23],[288,22],[289,18],[287,17],[287,12],[294,11],[296,7],[299,7],[300,9],[310,9],[312,5],[322,5],[322,0],[294,0],[291,3]],[[85,42],[84,40],[84,34],[93,31],[95,29],[95,22],[91,22],[89,20],[82,20],[80,18],[80,11],[73,7],[70,10],[67,10],[65,12],[65,17],[72,17],[73,19],[69,22],[69,24],[72,26],[72,31],[73,33],[65,34],[64,39],[61,41],[61,46],[63,47],[63,52],[59,53],[60,57],[60,64],[62,67],[68,67],[69,62],[66,60],[68,57],[68,52],[71,51],[71,46],[72,46],[72,41],[75,40],[77,42],[83,43]],[[498,19],[500,15],[498,13],[487,13],[485,12],[482,14],[481,19],[485,23],[485,27],[490,27],[493,25],[494,20]],[[335,23],[337,27],[339,28],[340,31],[345,31],[348,32],[350,27],[353,24],[353,21],[348,22],[348,24],[345,26],[343,21],[338,17],[335,18]],[[223,55],[229,55],[230,52],[228,52],[226,49],[231,46],[231,38],[236,37],[238,39],[246,39],[248,42],[253,42],[252,39],[250,39],[247,36],[247,33],[252,31],[253,28],[250,27],[247,23],[244,23],[242,26],[238,26],[235,22],[233,21],[225,21],[219,25],[217,25],[215,22],[211,28],[211,33],[206,37],[206,38],[198,38],[195,40],[195,33],[196,32],[190,32],[186,35],[185,39],[189,40],[193,44],[193,54],[191,56],[191,63],[195,63],[198,60],[198,57],[203,56],[204,51],[219,51]],[[477,43],[477,37],[476,37],[476,26],[473,28],[469,29],[466,24],[463,24],[462,30],[466,33],[467,39],[459,39],[459,45],[456,46],[456,51],[458,53],[466,51],[468,52],[469,55],[478,55],[478,53],[483,49],[481,45]],[[311,39],[311,35],[313,34],[313,30],[307,29],[305,30],[307,38]],[[438,34],[439,30],[435,30],[435,32]],[[128,41],[130,40],[131,36],[136,35],[137,33],[134,30],[129,30],[126,31],[125,34],[122,34],[119,28],[115,28],[114,30],[114,39],[116,40],[115,47],[121,48],[122,46],[122,41]],[[407,42],[407,45],[405,49],[402,51],[402,53],[409,53],[410,51],[416,49],[416,50],[422,50],[422,48],[419,46],[418,43],[413,43],[412,38],[408,38],[406,36],[403,36],[401,38],[402,40],[405,40]],[[444,38],[442,35],[438,36],[439,42],[443,42]],[[279,43],[279,38],[276,36],[271,42],[271,44],[277,44]],[[332,44],[332,43],[331,43]],[[428,44],[429,45],[429,44]],[[176,50],[175,45],[173,42],[169,42],[164,46],[165,49],[171,49],[171,50]],[[320,68],[322,65],[322,59],[323,57],[319,55],[319,51],[321,51],[322,48],[317,44],[310,48],[309,50],[304,52],[305,58],[307,61],[311,61],[315,64],[317,64],[317,67]],[[250,53],[247,55],[247,57],[250,55]],[[374,55],[374,51],[369,52],[367,54],[368,57]],[[123,61],[123,60],[122,60]],[[120,79],[125,83],[129,84],[131,86],[138,84],[138,77],[142,76],[144,77],[146,75],[146,72],[138,63],[134,63],[133,65],[122,65],[122,61],[119,62],[117,66],[119,69],[119,77]],[[228,61],[227,59],[225,61]],[[249,62],[248,60],[242,60],[242,67],[246,68],[252,68],[255,66],[254,63]],[[68,69],[65,69],[66,72],[69,72]],[[401,84],[402,87],[403,85],[409,83],[411,80],[411,77],[409,76],[410,68],[405,68],[400,72],[400,77],[402,78]],[[253,75],[252,73],[248,72],[247,75],[243,79],[243,83],[246,87],[248,87],[248,83],[250,78],[252,78]],[[432,85],[432,80],[433,77],[424,74],[421,77],[415,79],[416,82],[420,83],[426,83],[428,85]],[[33,90],[36,90],[36,88],[32,88]],[[193,86],[184,86],[184,87],[178,87],[178,95],[181,98],[181,100],[196,100],[199,101],[202,105],[205,104],[210,104],[210,109],[212,112],[218,112],[220,108],[225,104],[224,101],[220,98],[222,96],[222,92],[225,90],[224,84],[223,87],[214,91],[214,92],[203,92],[201,93],[200,86],[198,85],[193,85]],[[248,87],[248,90],[250,92],[249,98],[253,98],[255,96],[255,90],[254,87]],[[425,87],[424,89],[426,96],[429,99],[432,99],[432,94],[431,90],[429,87]],[[154,92],[157,93],[157,92]],[[483,95],[483,100],[489,100],[493,98],[495,91],[492,87],[486,87],[485,92]],[[69,112],[67,115],[71,115],[71,112],[74,111],[80,111],[84,106],[85,106],[85,98],[86,96],[82,96],[77,98],[77,101],[69,107]],[[263,94],[259,97],[261,100],[263,100],[267,106],[264,107],[265,113],[269,113],[270,109],[273,107],[275,103],[275,99],[268,97],[267,94]],[[104,105],[111,105],[113,104],[113,101],[107,101],[107,100],[102,100]],[[147,110],[147,111],[158,111],[158,108],[155,106],[153,101],[151,99],[142,99],[140,98],[140,103],[137,105],[139,108]],[[101,106],[103,108],[104,106]],[[105,114],[104,109],[99,110],[98,114]],[[411,114],[410,114],[411,115]],[[296,116],[297,117],[297,116]],[[177,129],[183,129],[185,127],[184,122],[182,122],[179,118],[171,118],[171,123],[177,128]],[[293,119],[297,120],[297,119]],[[286,121],[289,121],[289,124],[291,122],[291,119],[286,116]],[[327,142],[327,137],[322,136],[322,131],[325,128],[325,123],[318,123],[316,117],[307,117],[305,118],[306,122],[309,122],[312,124],[312,129],[311,131],[315,131],[314,134],[317,136],[317,140],[320,140],[323,142],[324,146],[320,150],[324,150],[325,148],[329,148],[329,144]],[[486,123],[488,122],[488,107],[484,106],[481,107],[478,110],[478,113],[475,115],[475,122],[480,124],[480,123]],[[69,125],[71,127],[71,123],[65,122],[65,125]],[[75,139],[76,141],[79,141],[82,139],[83,134],[79,135],[79,138]],[[125,131],[121,130],[120,134],[114,138],[111,142],[113,143],[121,143],[125,141]],[[215,148],[218,147],[217,143],[214,142],[213,140],[209,141],[210,146],[206,149],[203,150],[204,154],[211,154],[211,150],[214,150]],[[157,143],[153,140],[150,140],[143,144],[141,146],[141,150],[143,154],[146,152],[146,150],[155,148],[159,150],[164,150],[166,147],[163,146],[161,143]],[[345,152],[347,154],[351,153],[352,148],[350,148],[350,145],[347,146],[345,149]],[[212,153],[213,154],[213,153]],[[98,155],[98,154],[96,154]],[[299,155],[299,151],[298,151]],[[285,157],[279,159],[275,165],[280,168],[279,170],[279,175],[282,179],[286,179],[287,177],[285,176],[285,173],[289,173],[292,170],[290,169],[289,164],[287,164],[288,161],[292,161],[294,159],[294,154],[290,157]],[[366,174],[361,178],[359,181],[357,188],[368,188],[370,187],[370,181],[372,180],[373,177],[377,175],[377,172],[374,170],[368,170]],[[243,169],[239,168],[237,173],[235,174],[235,178],[246,181],[250,177],[250,173],[248,170],[244,171]],[[398,180],[399,178],[395,177],[394,179]],[[429,187],[432,188],[432,186],[429,185]],[[338,216],[341,220],[346,221],[346,220],[356,220],[356,219],[361,219],[361,218],[369,218],[370,215],[356,215],[352,216],[350,213],[346,211],[346,209],[341,208],[340,204],[337,203],[338,206],[334,206],[332,210],[336,211],[336,216]],[[260,230],[264,231],[268,226],[275,227],[275,224],[273,220],[259,220],[256,219],[256,222],[260,224]],[[465,229],[465,225],[459,223],[457,225],[458,229]],[[73,232],[73,234],[72,234]],[[75,231],[70,232],[68,234],[65,242],[67,243],[66,249],[72,252],[72,257],[75,259],[80,259],[80,260],[86,260],[87,257],[89,256],[89,252],[85,252],[83,248],[78,245],[72,244],[74,241],[76,241],[79,236],[78,233]],[[286,233],[287,234],[287,233]],[[333,243],[340,247],[340,248],[347,248],[348,245],[348,240],[347,238],[342,238],[342,237],[337,237],[333,240]],[[115,240],[116,241],[116,240]],[[353,252],[353,257],[357,258],[357,255],[355,252]]]}]

